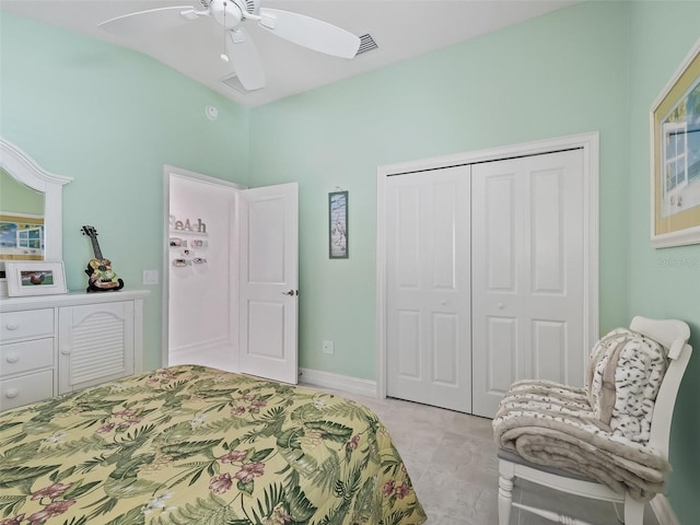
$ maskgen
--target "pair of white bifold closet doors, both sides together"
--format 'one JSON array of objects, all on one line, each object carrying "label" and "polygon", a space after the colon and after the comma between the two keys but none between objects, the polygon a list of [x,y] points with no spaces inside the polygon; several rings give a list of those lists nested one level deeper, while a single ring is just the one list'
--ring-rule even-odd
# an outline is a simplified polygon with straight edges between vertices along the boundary
[{"label": "pair of white bifold closet doors, both sides together", "polygon": [[583,152],[390,176],[386,392],[493,417],[520,378],[583,382]]}]

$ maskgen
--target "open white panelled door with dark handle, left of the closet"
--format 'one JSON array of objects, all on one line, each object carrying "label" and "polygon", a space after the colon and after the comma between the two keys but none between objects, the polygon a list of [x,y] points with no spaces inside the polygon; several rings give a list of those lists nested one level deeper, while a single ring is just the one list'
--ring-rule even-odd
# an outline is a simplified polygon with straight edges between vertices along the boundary
[{"label": "open white panelled door with dark handle, left of the closet", "polygon": [[299,189],[237,194],[241,372],[298,383]]}]

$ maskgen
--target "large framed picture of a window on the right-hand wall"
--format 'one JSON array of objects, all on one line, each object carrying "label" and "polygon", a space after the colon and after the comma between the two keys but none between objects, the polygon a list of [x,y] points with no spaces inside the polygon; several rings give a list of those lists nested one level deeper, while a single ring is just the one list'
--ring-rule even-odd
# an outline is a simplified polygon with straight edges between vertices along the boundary
[{"label": "large framed picture of a window on the right-hand wall", "polygon": [[650,113],[652,246],[700,243],[700,40]]}]

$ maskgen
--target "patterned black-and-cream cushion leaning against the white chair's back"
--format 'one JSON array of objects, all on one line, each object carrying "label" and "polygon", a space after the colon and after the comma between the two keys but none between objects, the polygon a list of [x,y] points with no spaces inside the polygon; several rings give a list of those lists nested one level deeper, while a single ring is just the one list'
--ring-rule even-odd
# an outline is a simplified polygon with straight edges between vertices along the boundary
[{"label": "patterned black-and-cream cushion leaning against the white chair's back", "polygon": [[616,328],[591,351],[586,392],[595,417],[614,434],[649,441],[654,401],[667,368],[664,347]]}]

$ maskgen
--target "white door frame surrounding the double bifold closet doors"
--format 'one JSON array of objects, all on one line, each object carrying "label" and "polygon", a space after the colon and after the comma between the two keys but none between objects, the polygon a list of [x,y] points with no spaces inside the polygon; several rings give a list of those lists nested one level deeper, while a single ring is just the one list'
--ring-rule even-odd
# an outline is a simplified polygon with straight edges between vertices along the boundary
[{"label": "white door frame surrounding the double bifold closet doors", "polygon": [[[598,178],[599,133],[571,135],[520,144],[422,159],[377,167],[376,179],[376,395],[386,397],[386,182],[390,176],[444,167],[502,161],[525,155],[583,150],[584,351],[598,339]],[[585,328],[587,327],[587,329]]]}]

